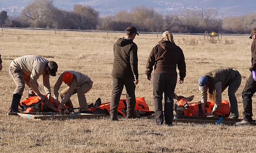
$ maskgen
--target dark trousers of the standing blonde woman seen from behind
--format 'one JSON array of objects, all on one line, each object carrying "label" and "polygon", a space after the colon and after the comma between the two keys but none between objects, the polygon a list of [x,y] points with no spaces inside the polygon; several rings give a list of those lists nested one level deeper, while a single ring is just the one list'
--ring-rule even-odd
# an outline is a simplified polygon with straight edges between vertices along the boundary
[{"label": "dark trousers of the standing blonde woman seen from behind", "polygon": [[[155,120],[157,124],[172,124],[173,94],[176,87],[177,74],[160,73],[153,76],[153,96],[155,103]],[[164,93],[164,113],[163,113]]]}]

